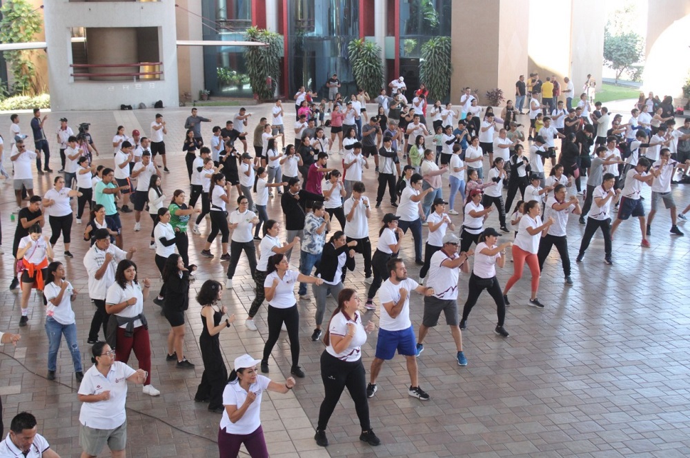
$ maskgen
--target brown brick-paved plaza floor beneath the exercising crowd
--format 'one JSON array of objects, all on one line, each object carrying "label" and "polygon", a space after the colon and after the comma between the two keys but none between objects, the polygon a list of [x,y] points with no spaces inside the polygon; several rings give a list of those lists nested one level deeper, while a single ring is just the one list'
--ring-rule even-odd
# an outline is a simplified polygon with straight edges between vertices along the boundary
[{"label": "brown brick-paved plaza floor beneath the exercising crowd", "polygon": [[[611,106],[611,105],[609,105]],[[627,107],[627,105],[624,105]],[[248,138],[261,116],[271,105],[248,107],[250,118]],[[286,109],[286,140],[293,141],[292,103]],[[375,105],[370,105],[370,113]],[[239,107],[199,107],[199,116],[212,118],[204,123],[202,132],[208,143],[211,127],[224,127]],[[184,153],[181,152],[184,120],[189,107],[160,110],[167,121],[168,168],[162,177],[164,192],[172,196],[175,189],[188,192]],[[627,110],[627,109],[626,109]],[[149,125],[159,110],[107,112],[48,112],[46,134],[50,144],[52,174],[34,177],[34,189],[40,194],[57,176],[59,150],[55,132],[59,118],[65,116],[75,129],[81,122],[92,125],[91,133],[101,152],[96,163],[112,167],[112,136],[117,125],[126,132],[139,129],[148,136]],[[623,110],[620,110],[623,111]],[[22,113],[21,129],[30,134],[30,113]],[[627,119],[624,117],[624,119]],[[526,116],[520,122],[529,123]],[[682,125],[682,122],[679,124]],[[5,138],[5,162],[9,168],[9,114],[0,115],[0,133]],[[328,129],[326,129],[328,132]],[[327,134],[329,136],[330,134]],[[27,145],[32,146],[31,138]],[[558,143],[557,143],[558,145]],[[431,138],[427,139],[431,147]],[[241,144],[240,144],[241,148]],[[339,166],[342,156],[334,154],[329,166]],[[160,159],[157,159],[160,163]],[[486,167],[486,160],[484,162]],[[35,173],[35,171],[34,171]],[[373,166],[365,171],[368,195],[375,200],[377,180]],[[447,197],[447,176],[444,196]],[[690,202],[687,186],[673,187],[680,209]],[[649,187],[645,187],[644,205],[649,211]],[[236,197],[233,191],[233,198]],[[76,205],[76,202],[75,202]],[[58,358],[57,380],[46,377],[48,338],[44,329],[45,313],[38,296],[30,299],[32,313],[28,326],[19,328],[19,290],[8,289],[12,278],[12,236],[16,222],[10,221],[14,211],[11,184],[0,183],[0,218],[3,227],[3,249],[0,256],[0,331],[21,334],[17,348],[0,347],[0,395],[3,397],[3,419],[6,430],[10,419],[22,410],[29,410],[39,421],[44,435],[61,457],[79,457],[78,384],[65,344]],[[456,205],[460,210],[460,205]],[[384,201],[382,208],[372,207],[369,231],[375,246],[382,216],[393,211]],[[461,211],[462,213],[462,211]],[[279,199],[268,202],[268,214],[282,221]],[[146,215],[144,215],[146,216]],[[85,222],[86,222],[86,216]],[[160,285],[155,267],[154,251],[148,249],[150,219],[142,218],[142,230],[135,233],[133,214],[122,214],[124,247],[137,247],[133,260],[139,267],[139,279],[151,278],[152,291]],[[462,216],[452,217],[460,228]],[[497,212],[486,226],[498,227]],[[640,247],[637,221],[621,225],[613,242],[613,266],[604,264],[603,242],[598,233],[584,262],[575,263],[584,226],[571,217],[568,225],[570,255],[573,260],[574,286],[563,282],[560,259],[555,250],[544,265],[539,299],[545,309],[527,306],[529,300],[529,269],[525,278],[510,293],[512,306],[507,309],[504,339],[493,333],[496,322],[495,305],[484,293],[470,315],[464,331],[464,353],[469,360],[465,367],[455,362],[455,346],[447,326],[438,326],[426,338],[425,351],[419,357],[420,386],[431,395],[422,402],[407,394],[409,379],[404,357],[395,357],[384,365],[377,381],[379,390],[369,400],[373,430],[382,445],[371,447],[360,442],[359,423],[349,395],[344,393],[341,404],[328,426],[331,441],[320,448],[313,439],[324,388],[319,374],[319,357],[324,350],[321,342],[311,342],[314,329],[315,303],[311,290],[308,300],[297,300],[300,313],[300,364],[306,378],[297,379],[297,386],[286,395],[271,393],[262,404],[262,425],[271,457],[687,457],[690,456],[690,234],[674,237],[669,212],[661,209],[649,238],[651,248]],[[334,230],[339,229],[337,221]],[[197,280],[190,288],[190,306],[186,313],[186,357],[196,364],[193,371],[179,370],[168,363],[166,338],[170,326],[159,315],[159,308],[150,300],[144,304],[152,347],[152,384],[161,391],[160,397],[141,393],[132,386],[127,401],[128,457],[213,457],[217,456],[217,432],[220,416],[209,413],[206,404],[193,398],[203,372],[198,337],[201,333],[199,304],[194,300],[204,280],[213,278],[224,283],[227,263],[218,256],[213,260],[199,255],[210,229],[206,220],[200,226],[202,236],[190,233],[190,262],[199,265]],[[681,226],[681,229],[683,227]],[[687,227],[690,230],[690,227]],[[88,298],[87,273],[81,259],[89,244],[81,240],[83,226],[72,227],[75,258],[65,259],[62,241],[56,246],[56,260],[66,264],[67,280],[79,291],[74,304],[83,364],[90,367],[90,346],[86,344],[88,326],[95,307]],[[46,233],[50,233],[46,224]],[[456,231],[457,233],[457,231]],[[426,228],[424,228],[426,236]],[[281,234],[284,238],[284,230]],[[511,234],[512,237],[512,234]],[[507,238],[507,236],[506,236]],[[220,251],[219,238],[211,247]],[[404,239],[400,256],[407,261],[411,278],[418,278],[414,264],[411,233]],[[299,255],[293,255],[297,269]],[[356,257],[357,269],[349,273],[346,287],[366,297],[361,256]],[[512,274],[513,264],[506,262],[498,270],[503,286]],[[468,275],[461,274],[460,307],[467,292]],[[259,332],[244,326],[247,311],[254,298],[254,282],[242,257],[235,275],[235,289],[225,291],[222,303],[237,321],[233,329],[221,333],[221,350],[228,370],[235,357],[250,353],[260,357],[268,335],[266,306],[256,317]],[[378,305],[378,299],[375,300]],[[328,298],[328,312],[335,307]],[[362,310],[362,312],[365,312]],[[364,321],[378,323],[378,311],[364,313]],[[411,318],[415,331],[422,320],[422,298],[413,295]],[[373,360],[377,333],[369,335],[362,347],[367,373]],[[281,382],[289,375],[290,351],[286,333],[269,361],[270,377]],[[130,365],[135,366],[132,354]],[[244,449],[243,449],[244,450]],[[109,454],[103,456],[110,456]],[[248,456],[242,453],[240,456]]]}]

